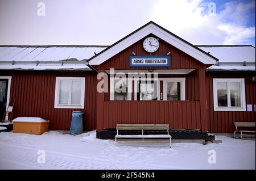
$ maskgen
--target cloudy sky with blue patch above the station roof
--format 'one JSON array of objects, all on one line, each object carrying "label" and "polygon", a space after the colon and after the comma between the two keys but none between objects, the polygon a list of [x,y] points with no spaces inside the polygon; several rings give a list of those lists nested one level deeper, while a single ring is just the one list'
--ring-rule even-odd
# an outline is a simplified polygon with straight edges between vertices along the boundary
[{"label": "cloudy sky with blue patch above the station roof", "polygon": [[0,0],[0,45],[112,45],[150,20],[194,45],[255,47],[255,0]]}]

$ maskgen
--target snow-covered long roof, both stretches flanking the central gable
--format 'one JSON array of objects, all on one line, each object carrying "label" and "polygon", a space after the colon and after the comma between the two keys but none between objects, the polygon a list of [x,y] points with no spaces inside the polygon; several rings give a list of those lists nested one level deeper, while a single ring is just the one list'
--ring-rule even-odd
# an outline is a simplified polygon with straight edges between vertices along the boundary
[{"label": "snow-covered long roof, both stretches flanking the central gable", "polygon": [[[219,61],[208,70],[255,71],[255,47],[251,45],[197,45]],[[52,45],[0,46],[0,69],[90,70],[86,65],[108,46]]]}]

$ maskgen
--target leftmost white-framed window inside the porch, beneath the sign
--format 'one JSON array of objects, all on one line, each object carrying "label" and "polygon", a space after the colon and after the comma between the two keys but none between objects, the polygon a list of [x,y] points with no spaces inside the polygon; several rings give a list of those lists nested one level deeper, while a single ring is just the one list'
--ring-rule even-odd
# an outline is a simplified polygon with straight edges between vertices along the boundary
[{"label": "leftmost white-framed window inside the porch, beneath the sign", "polygon": [[131,89],[127,78],[110,78],[110,100],[131,100]]}]

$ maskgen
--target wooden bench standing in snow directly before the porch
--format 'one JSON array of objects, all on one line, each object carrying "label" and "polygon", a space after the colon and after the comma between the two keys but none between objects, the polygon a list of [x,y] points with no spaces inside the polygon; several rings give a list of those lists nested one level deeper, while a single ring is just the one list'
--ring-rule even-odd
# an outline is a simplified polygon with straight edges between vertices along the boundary
[{"label": "wooden bench standing in snow directly before the porch", "polygon": [[[118,131],[142,131],[142,134],[119,134]],[[144,134],[144,131],[167,131],[167,134]],[[117,144],[118,138],[126,138],[126,139],[142,139],[142,142],[144,142],[144,139],[163,139],[168,138],[170,140],[170,148],[171,148],[171,135],[169,134],[169,124],[117,124],[117,135],[115,135],[115,145]]]}]

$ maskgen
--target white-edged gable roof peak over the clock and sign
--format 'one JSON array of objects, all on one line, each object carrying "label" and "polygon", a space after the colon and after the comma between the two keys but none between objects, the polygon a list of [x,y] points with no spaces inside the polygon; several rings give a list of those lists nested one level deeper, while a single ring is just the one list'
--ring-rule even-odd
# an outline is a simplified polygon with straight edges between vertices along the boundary
[{"label": "white-edged gable roof peak over the clock and sign", "polygon": [[89,64],[102,64],[109,58],[113,57],[115,54],[136,43],[138,40],[141,40],[143,37],[149,35],[150,33],[158,36],[160,39],[166,41],[167,43],[170,43],[174,47],[196,58],[203,64],[215,64],[216,61],[218,61],[218,58],[212,56],[207,52],[204,52],[204,50],[197,48],[195,45],[192,45],[188,41],[181,39],[181,37],[151,21],[142,26],[141,28],[138,28],[134,32],[130,33],[129,35],[123,37],[123,39],[117,41],[110,47],[102,50],[102,52],[90,58]]}]

